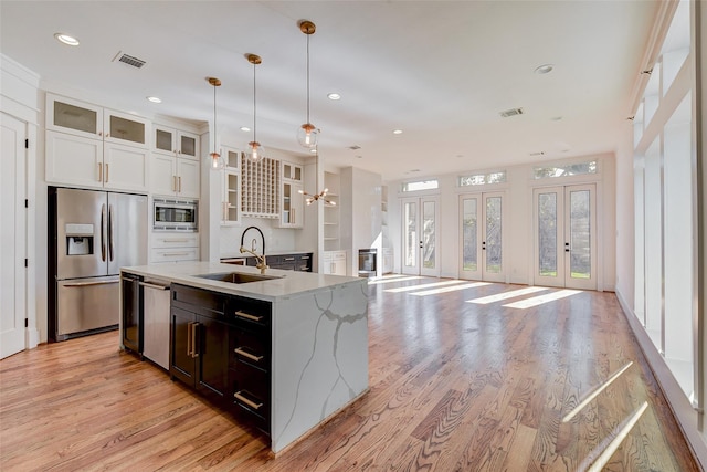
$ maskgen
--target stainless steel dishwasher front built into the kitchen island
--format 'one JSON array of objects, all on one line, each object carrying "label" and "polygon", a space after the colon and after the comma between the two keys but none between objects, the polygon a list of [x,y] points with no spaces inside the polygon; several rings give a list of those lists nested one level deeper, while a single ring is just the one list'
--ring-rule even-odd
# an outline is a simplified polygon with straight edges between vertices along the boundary
[{"label": "stainless steel dishwasher front built into the kitchen island", "polygon": [[146,279],[143,289],[143,356],[169,370],[169,282]]}]

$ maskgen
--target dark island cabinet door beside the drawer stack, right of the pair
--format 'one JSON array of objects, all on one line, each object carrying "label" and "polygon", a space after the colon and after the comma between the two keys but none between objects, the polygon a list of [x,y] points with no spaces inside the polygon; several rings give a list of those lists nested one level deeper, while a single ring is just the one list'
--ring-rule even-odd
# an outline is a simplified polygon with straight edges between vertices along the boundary
[{"label": "dark island cabinet door beside the drawer stack, right of the pair", "polygon": [[225,398],[229,386],[229,326],[198,316],[197,389]]}]

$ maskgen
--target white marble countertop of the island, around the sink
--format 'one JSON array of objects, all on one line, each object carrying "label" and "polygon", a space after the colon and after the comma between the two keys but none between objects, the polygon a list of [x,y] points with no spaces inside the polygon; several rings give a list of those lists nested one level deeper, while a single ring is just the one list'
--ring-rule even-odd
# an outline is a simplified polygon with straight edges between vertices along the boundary
[{"label": "white marble countertop of the island, around the sink", "polygon": [[251,298],[276,302],[292,296],[314,293],[323,289],[334,289],[338,285],[367,284],[367,279],[349,277],[341,275],[324,275],[312,272],[283,271],[268,269],[265,275],[275,279],[247,283],[230,283],[210,279],[201,279],[197,275],[240,272],[245,274],[260,274],[260,270],[245,265],[222,264],[220,262],[181,262],[175,264],[150,264],[122,268],[120,271],[129,272],[145,277],[159,279],[170,283],[180,283],[213,292],[232,295],[249,296]]}]

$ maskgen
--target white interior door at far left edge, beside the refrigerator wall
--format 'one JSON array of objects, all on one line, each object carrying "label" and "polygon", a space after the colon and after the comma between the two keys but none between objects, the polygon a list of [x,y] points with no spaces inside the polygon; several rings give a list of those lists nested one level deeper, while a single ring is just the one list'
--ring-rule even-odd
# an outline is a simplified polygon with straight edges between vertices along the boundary
[{"label": "white interior door at far left edge, beside the refrigerator wall", "polygon": [[27,317],[27,124],[0,113],[0,358],[25,348]]}]

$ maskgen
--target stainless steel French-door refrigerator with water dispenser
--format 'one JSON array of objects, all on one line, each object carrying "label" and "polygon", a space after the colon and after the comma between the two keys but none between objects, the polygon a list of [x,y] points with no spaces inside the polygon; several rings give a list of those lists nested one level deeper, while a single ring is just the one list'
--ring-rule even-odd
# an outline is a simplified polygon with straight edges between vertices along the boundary
[{"label": "stainless steel French-door refrigerator with water dispenser", "polygon": [[50,187],[49,335],[115,329],[122,266],[147,263],[144,195]]}]

